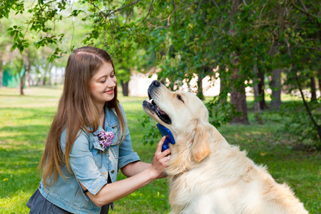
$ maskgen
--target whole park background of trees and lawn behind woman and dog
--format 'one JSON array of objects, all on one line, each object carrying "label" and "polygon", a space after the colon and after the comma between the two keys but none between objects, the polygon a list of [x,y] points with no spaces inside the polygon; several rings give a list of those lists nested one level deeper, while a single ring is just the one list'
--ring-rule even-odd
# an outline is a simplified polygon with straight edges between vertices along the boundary
[{"label": "whole park background of trees and lawn behind woman and dog", "polygon": [[[28,213],[66,59],[80,46],[111,54],[142,161],[161,137],[141,108],[157,78],[197,94],[228,142],[321,213],[319,1],[2,0],[0,33],[0,213]],[[169,210],[163,179],[111,213]]]}]

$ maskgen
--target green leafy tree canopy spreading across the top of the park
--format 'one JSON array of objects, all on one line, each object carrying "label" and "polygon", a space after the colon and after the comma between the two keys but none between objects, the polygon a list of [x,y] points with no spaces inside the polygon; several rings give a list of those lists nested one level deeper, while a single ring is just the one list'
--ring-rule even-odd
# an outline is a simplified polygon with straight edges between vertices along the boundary
[{"label": "green leafy tree canopy spreading across the top of the park", "polygon": [[[291,76],[305,72],[315,76],[320,68],[318,1],[48,0],[37,1],[26,11],[21,9],[25,2],[7,2],[4,16],[10,10],[28,13],[26,28],[40,34],[35,46],[57,46],[51,61],[73,50],[72,44],[70,50],[61,48],[66,34],[55,31],[63,20],[73,19],[86,22],[83,44],[98,46],[113,56],[121,81],[128,81],[135,68],[161,68],[158,78],[172,89],[195,76],[220,78],[220,96],[210,103],[224,103],[225,107],[220,109],[224,116],[213,119],[215,124],[246,115],[234,111],[238,106],[226,99],[229,93],[244,93],[246,86],[252,86],[255,68],[268,75],[281,68],[287,88],[299,87]],[[15,38],[13,48],[20,51],[30,44],[22,29],[18,25],[9,29]],[[309,81],[302,82],[308,86]],[[200,86],[191,90],[203,98]]]}]

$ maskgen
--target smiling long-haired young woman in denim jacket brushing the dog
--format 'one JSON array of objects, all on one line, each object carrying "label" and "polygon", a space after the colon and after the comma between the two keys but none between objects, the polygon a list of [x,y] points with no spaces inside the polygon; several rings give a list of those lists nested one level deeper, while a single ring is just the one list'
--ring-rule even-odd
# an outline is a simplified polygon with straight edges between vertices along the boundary
[{"label": "smiling long-haired young woman in denim jacket brushing the dog", "polygon": [[[76,49],[39,165],[42,179],[27,203],[30,213],[108,213],[113,201],[165,177],[170,150],[161,152],[164,141],[152,164],[140,161],[117,100],[111,57],[94,47]],[[118,169],[128,178],[116,181]]]}]

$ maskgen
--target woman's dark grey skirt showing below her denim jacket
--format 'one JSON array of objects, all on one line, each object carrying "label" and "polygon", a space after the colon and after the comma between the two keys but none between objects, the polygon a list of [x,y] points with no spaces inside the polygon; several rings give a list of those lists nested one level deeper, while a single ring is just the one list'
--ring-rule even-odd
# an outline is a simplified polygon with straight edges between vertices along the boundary
[{"label": "woman's dark grey skirt showing below her denim jacket", "polygon": [[[63,210],[49,200],[46,200],[46,198],[41,195],[39,189],[31,195],[26,206],[30,209],[29,214],[69,214],[68,211]],[[109,204],[103,205],[101,214],[107,214],[108,210]]]}]

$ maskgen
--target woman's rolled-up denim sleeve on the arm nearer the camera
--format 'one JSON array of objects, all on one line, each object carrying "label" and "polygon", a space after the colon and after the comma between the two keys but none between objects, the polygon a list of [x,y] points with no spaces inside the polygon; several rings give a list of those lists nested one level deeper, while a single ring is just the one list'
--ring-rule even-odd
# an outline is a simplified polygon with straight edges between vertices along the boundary
[{"label": "woman's rolled-up denim sleeve on the arm nearer the camera", "polygon": [[[66,131],[61,133],[61,147],[65,148]],[[91,151],[89,151],[89,137],[83,131],[73,143],[69,155],[69,164],[76,179],[84,185],[90,193],[96,195],[106,185],[107,180],[95,163]],[[86,194],[85,194],[86,195]]]}]

